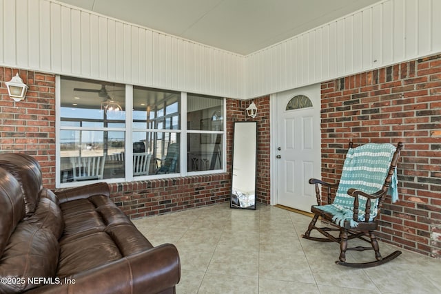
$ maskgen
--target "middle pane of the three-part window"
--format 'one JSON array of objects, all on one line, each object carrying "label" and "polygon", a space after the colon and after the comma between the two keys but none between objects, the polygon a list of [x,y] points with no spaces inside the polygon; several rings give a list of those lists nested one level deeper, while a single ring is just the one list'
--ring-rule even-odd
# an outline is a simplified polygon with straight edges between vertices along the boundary
[{"label": "middle pane of the three-part window", "polygon": [[180,173],[180,110],[180,92],[134,87],[134,176]]}]

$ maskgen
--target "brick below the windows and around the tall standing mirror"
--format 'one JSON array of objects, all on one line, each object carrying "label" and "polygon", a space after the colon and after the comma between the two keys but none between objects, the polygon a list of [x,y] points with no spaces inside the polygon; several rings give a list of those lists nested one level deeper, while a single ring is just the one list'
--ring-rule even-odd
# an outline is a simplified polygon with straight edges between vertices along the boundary
[{"label": "brick below the windows and around the tall standing mirror", "polygon": [[258,122],[258,202],[269,204],[269,96],[255,99],[256,118],[247,118],[249,101],[227,99],[227,172],[111,184],[112,200],[130,216],[140,218],[229,201],[235,121]]}]

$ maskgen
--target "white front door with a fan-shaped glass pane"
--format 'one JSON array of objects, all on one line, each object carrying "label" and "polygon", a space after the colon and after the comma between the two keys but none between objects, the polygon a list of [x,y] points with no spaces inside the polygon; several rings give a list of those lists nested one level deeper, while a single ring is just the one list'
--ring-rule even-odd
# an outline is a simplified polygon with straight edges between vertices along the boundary
[{"label": "white front door with a fan-shaped glass pane", "polygon": [[277,204],[310,211],[320,178],[320,84],[276,94]]}]

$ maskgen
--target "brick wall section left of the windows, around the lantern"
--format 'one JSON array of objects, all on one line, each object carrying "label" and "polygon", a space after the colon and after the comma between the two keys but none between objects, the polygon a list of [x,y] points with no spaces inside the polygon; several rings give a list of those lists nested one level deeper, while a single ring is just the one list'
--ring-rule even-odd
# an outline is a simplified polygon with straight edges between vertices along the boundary
[{"label": "brick wall section left of the windows, around the lantern", "polygon": [[[19,72],[28,93],[23,101],[8,96],[4,82]],[[55,77],[0,67],[0,152],[22,152],[39,160],[43,185],[55,187]]]}]

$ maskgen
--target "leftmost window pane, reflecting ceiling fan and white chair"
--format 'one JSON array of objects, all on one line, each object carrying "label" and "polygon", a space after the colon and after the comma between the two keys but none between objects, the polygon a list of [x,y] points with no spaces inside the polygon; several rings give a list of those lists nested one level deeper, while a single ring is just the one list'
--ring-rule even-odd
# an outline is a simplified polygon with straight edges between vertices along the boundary
[{"label": "leftmost window pane, reflecting ceiling fan and white chair", "polygon": [[60,182],[125,176],[124,101],[125,85],[61,78]]}]

